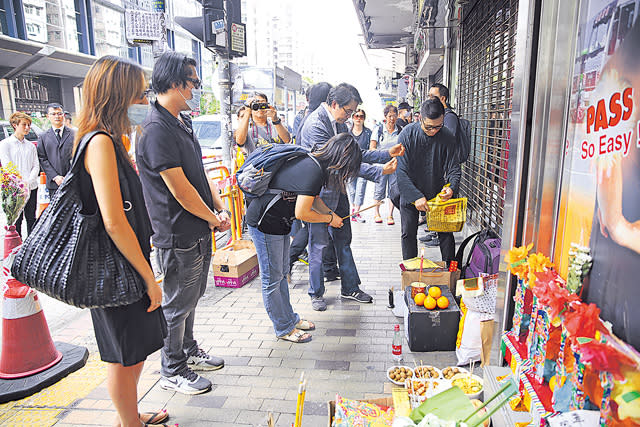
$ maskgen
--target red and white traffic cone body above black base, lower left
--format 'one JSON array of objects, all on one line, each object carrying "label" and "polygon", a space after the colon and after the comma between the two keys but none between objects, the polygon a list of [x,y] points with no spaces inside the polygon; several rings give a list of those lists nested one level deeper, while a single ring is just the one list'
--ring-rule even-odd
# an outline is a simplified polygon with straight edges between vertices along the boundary
[{"label": "red and white traffic cone body above black base, lower left", "polygon": [[7,281],[2,305],[0,378],[22,378],[62,359],[49,333],[38,294],[16,279]]}]

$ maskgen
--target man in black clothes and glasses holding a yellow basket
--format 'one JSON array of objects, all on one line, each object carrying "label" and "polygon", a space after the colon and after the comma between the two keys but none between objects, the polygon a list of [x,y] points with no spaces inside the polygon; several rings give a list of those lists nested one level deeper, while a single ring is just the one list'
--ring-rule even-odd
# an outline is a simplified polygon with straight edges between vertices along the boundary
[{"label": "man in black clothes and glasses holding a yellow basket", "polygon": [[[443,128],[444,107],[440,100],[427,99],[420,107],[421,122],[408,125],[398,142],[405,155],[398,158],[396,178],[400,191],[402,258],[418,256],[418,215],[429,210],[427,200],[438,193],[449,200],[458,191],[462,175],[455,137]],[[447,181],[450,186],[445,186]],[[453,233],[438,233],[443,261],[455,257]]]}]

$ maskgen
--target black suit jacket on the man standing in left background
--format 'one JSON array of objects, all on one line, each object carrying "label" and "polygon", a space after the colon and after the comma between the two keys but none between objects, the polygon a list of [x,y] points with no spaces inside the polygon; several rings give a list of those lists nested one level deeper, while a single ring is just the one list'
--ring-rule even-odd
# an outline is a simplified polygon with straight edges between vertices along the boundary
[{"label": "black suit jacket on the man standing in left background", "polygon": [[62,138],[58,137],[50,128],[38,137],[38,159],[40,167],[47,174],[47,188],[57,190],[58,184],[53,178],[65,176],[71,168],[71,151],[73,150],[73,140],[75,131],[66,126],[62,128]]}]

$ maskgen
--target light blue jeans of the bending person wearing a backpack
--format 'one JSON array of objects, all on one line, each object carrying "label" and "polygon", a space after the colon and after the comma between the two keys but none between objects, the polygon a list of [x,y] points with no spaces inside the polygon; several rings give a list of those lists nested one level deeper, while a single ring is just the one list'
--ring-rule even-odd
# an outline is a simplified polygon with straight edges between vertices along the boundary
[{"label": "light blue jeans of the bending person wearing a backpack", "polygon": [[258,255],[264,308],[273,323],[276,336],[287,335],[300,321],[300,316],[291,307],[287,283],[289,236],[266,234],[252,226],[249,226],[249,234]]}]

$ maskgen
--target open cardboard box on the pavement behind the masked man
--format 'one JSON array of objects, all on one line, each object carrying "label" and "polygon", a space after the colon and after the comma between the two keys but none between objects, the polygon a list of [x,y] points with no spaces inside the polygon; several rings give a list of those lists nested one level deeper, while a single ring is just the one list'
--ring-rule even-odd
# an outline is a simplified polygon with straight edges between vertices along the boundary
[{"label": "open cardboard box on the pavement behind the masked man", "polygon": [[260,271],[256,247],[250,240],[235,240],[216,251],[211,268],[216,286],[240,288],[258,276]]}]

